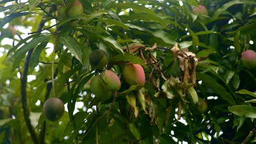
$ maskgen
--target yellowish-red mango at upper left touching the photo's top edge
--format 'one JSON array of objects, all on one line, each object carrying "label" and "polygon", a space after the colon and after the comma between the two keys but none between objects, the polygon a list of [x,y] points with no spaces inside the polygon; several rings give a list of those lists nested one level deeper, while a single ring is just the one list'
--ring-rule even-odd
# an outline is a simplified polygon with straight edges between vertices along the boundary
[{"label": "yellowish-red mango at upper left touching the photo's top edge", "polygon": [[79,1],[74,1],[70,7],[67,9],[67,16],[72,17],[72,16],[77,16],[82,14],[84,11],[82,3]]}]

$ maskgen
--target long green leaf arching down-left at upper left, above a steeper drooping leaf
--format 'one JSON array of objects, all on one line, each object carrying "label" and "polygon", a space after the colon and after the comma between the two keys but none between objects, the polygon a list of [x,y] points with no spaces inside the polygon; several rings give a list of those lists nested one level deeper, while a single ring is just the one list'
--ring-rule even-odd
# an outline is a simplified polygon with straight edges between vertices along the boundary
[{"label": "long green leaf arching down-left at upper left, above a steeper drooping leaf", "polygon": [[28,42],[27,44],[21,46],[20,49],[17,50],[17,51],[14,53],[13,57],[18,57],[18,56],[20,56],[20,55],[24,55],[24,53],[26,53],[28,50],[30,50],[30,49],[36,47],[37,44],[43,43],[43,42],[45,42],[45,41],[49,41],[50,38],[51,38],[51,35],[50,35],[50,36],[49,36],[49,35],[43,35],[43,36],[41,36],[41,37],[37,37],[37,38],[32,39],[32,40],[31,40],[30,42]]}]

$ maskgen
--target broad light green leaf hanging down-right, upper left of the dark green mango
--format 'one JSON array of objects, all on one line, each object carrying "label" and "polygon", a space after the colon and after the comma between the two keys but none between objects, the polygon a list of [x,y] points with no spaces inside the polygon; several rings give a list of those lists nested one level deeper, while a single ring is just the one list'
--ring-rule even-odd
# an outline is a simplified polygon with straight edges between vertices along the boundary
[{"label": "broad light green leaf hanging down-right, upper left of the dark green mango", "polygon": [[83,63],[82,51],[77,41],[75,41],[72,37],[68,35],[60,35],[59,40],[60,43],[65,45],[68,48],[68,50],[74,55],[74,57],[78,59],[78,61]]}]

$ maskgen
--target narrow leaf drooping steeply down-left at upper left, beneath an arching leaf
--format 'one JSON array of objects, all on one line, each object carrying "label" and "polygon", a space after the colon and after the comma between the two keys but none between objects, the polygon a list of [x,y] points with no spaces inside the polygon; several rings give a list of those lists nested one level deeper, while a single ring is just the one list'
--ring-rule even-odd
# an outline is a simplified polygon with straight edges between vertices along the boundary
[{"label": "narrow leaf drooping steeply down-left at upper left, beneath an arching leaf", "polygon": [[33,71],[34,68],[37,67],[37,65],[39,63],[40,53],[46,47],[46,45],[48,44],[49,40],[39,44],[37,46],[36,50],[33,51],[32,56],[31,56],[31,61],[30,61],[30,70],[31,71]]}]

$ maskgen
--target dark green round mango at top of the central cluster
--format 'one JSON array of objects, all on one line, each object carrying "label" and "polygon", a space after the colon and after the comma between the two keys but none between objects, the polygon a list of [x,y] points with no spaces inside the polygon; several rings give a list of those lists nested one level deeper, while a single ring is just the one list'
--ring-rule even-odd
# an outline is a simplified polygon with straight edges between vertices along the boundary
[{"label": "dark green round mango at top of the central cluster", "polygon": [[92,51],[89,57],[89,62],[92,69],[100,70],[107,64],[108,55],[105,51],[101,49]]}]

